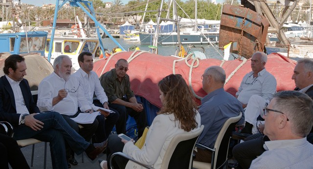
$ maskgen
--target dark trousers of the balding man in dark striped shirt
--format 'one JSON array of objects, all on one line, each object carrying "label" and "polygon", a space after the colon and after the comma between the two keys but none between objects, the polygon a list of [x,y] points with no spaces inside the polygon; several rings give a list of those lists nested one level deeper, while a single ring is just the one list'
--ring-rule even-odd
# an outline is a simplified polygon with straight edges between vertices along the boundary
[{"label": "dark trousers of the balding man in dark striped shirt", "polygon": [[[142,104],[141,102],[138,102],[138,103]],[[146,111],[144,108],[141,112],[137,112],[133,108],[126,107],[126,106],[119,105],[119,104],[111,103],[109,107],[110,108],[112,107],[113,109],[119,112],[119,119],[115,124],[117,134],[120,134],[120,133],[126,134],[126,120],[127,120],[127,116],[130,115],[131,117],[134,117],[136,121],[137,129],[138,129],[138,138],[142,136],[143,131],[145,130],[145,127],[147,127]]]}]

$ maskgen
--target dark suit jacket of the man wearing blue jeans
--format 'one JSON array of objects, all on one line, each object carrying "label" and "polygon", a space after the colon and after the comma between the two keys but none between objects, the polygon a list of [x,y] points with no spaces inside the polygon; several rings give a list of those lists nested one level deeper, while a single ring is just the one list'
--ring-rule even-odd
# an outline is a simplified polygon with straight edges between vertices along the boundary
[{"label": "dark suit jacket of the man wearing blue jeans", "polygon": [[[36,106],[32,94],[30,92],[29,84],[26,79],[20,83],[22,95],[25,105],[29,113],[40,113]],[[12,87],[5,76],[0,77],[0,121],[10,122],[13,126],[19,125],[21,114],[17,114],[15,98]]]}]

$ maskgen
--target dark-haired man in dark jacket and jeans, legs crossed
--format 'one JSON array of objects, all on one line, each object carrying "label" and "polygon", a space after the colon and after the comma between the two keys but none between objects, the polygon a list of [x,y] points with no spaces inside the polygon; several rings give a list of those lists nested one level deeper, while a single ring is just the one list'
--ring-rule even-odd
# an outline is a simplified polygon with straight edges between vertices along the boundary
[{"label": "dark-haired man in dark jacket and jeans, legs crossed", "polygon": [[9,56],[4,61],[3,72],[5,75],[0,77],[0,121],[13,125],[15,140],[35,138],[50,142],[53,169],[67,168],[65,140],[77,154],[86,151],[91,160],[106,148],[104,143],[86,142],[59,113],[40,113],[28,81],[23,79],[26,63],[22,56]]}]

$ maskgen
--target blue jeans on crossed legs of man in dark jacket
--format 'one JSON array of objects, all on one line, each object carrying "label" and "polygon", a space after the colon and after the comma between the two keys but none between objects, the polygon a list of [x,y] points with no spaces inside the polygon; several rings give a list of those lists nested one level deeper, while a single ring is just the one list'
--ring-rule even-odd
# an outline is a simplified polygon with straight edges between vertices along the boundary
[{"label": "blue jeans on crossed legs of man in dark jacket", "polygon": [[34,138],[44,142],[50,142],[50,153],[53,169],[67,169],[65,153],[65,140],[69,147],[76,153],[81,154],[90,145],[73,130],[58,112],[45,112],[36,114],[35,119],[44,123],[41,130],[19,125],[14,127],[15,140]]}]

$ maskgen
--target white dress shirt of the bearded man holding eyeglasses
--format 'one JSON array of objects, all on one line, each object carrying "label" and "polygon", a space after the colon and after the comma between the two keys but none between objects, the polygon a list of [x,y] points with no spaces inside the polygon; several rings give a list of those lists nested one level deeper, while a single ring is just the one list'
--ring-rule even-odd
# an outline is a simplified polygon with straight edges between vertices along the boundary
[{"label": "white dress shirt of the bearded man holding eyeglasses", "polygon": [[[79,80],[74,76],[70,76],[65,81],[53,72],[45,77],[38,86],[37,106],[40,111],[56,111],[69,116],[77,113],[78,106],[81,111],[91,109],[80,85]],[[67,97],[52,106],[53,98],[58,96],[61,89],[68,89],[70,92],[67,92]]]}]

